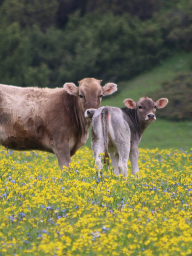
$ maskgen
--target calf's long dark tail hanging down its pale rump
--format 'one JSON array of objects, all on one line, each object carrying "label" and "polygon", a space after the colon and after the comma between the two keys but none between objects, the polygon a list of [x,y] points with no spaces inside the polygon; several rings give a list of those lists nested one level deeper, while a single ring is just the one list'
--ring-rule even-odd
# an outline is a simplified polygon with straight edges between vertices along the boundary
[{"label": "calf's long dark tail hanging down its pale rump", "polygon": [[109,154],[108,154],[108,138],[107,138],[107,117],[108,117],[108,109],[105,107],[103,108],[101,112],[101,123],[102,123],[102,130],[103,130],[103,139],[104,139],[104,164],[106,164],[106,158],[107,164],[109,165]]}]

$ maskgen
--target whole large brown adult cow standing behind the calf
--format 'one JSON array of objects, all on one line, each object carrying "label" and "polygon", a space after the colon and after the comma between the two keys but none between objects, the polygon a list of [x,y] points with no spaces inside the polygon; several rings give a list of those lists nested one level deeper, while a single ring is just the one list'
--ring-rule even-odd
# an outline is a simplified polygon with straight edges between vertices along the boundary
[{"label": "whole large brown adult cow standing behind the calf", "polygon": [[[0,85],[0,144],[14,150],[43,150],[57,156],[59,166],[85,144],[94,111],[102,96],[117,85],[85,78],[79,87],[41,89]],[[87,118],[88,117],[88,118]]]}]

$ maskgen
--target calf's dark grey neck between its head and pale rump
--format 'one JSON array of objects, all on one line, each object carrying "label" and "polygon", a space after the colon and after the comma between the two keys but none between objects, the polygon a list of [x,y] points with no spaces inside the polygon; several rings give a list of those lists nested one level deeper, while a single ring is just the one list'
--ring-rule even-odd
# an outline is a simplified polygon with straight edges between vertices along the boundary
[{"label": "calf's dark grey neck between its head and pale rump", "polygon": [[129,124],[131,134],[137,134],[137,137],[140,139],[144,130],[149,126],[149,124],[143,123],[139,120],[137,110],[130,108],[121,108],[126,121]]}]

